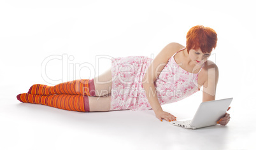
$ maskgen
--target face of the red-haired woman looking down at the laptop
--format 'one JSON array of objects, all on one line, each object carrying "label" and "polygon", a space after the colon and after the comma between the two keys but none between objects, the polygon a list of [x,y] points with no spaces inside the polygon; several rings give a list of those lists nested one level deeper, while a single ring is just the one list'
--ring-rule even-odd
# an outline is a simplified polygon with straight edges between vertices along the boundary
[{"label": "face of the red-haired woman looking down at the laptop", "polygon": [[196,65],[203,65],[206,60],[210,57],[211,53],[203,53],[201,49],[191,49],[189,51],[189,57]]}]

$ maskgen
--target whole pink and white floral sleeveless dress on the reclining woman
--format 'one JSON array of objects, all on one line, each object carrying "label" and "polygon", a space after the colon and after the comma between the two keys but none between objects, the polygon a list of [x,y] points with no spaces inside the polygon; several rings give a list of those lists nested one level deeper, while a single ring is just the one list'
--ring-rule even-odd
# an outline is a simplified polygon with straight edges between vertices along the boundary
[{"label": "whole pink and white floral sleeveless dress on the reclining woman", "polygon": [[[197,74],[185,71],[175,62],[174,55],[154,82],[156,92],[150,91],[150,95],[157,95],[160,105],[177,102],[199,91],[197,79],[201,70]],[[151,63],[152,58],[144,56],[112,58],[110,110],[152,109],[142,85],[142,79]]]}]

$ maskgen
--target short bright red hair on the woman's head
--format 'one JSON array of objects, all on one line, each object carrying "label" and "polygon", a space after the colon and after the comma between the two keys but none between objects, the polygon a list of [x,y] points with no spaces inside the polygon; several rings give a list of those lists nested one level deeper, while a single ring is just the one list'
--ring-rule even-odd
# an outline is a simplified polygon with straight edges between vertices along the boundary
[{"label": "short bright red hair on the woman's head", "polygon": [[201,49],[203,53],[211,53],[217,46],[217,33],[210,27],[196,25],[187,32],[187,51]]}]

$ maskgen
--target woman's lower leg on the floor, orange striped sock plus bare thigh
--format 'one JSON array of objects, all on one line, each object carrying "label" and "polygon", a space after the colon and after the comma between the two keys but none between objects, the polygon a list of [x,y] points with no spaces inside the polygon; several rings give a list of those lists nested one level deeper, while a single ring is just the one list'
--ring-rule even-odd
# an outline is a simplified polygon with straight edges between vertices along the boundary
[{"label": "woman's lower leg on the floor, orange striped sock plus bare thigh", "polygon": [[22,93],[17,95],[20,102],[42,104],[68,111],[110,111],[110,96],[89,97],[87,95],[33,95]]}]

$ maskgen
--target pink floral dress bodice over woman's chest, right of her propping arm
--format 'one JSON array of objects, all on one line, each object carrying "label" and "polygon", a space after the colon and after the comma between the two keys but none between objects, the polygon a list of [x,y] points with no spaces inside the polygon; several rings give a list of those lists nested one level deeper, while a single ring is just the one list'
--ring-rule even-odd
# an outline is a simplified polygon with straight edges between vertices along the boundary
[{"label": "pink floral dress bodice over woman's chest, right of her propping arm", "polygon": [[198,73],[185,71],[171,57],[155,80],[160,105],[178,102],[199,91],[197,80]]}]

